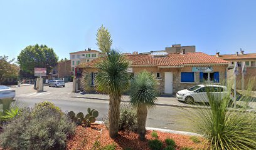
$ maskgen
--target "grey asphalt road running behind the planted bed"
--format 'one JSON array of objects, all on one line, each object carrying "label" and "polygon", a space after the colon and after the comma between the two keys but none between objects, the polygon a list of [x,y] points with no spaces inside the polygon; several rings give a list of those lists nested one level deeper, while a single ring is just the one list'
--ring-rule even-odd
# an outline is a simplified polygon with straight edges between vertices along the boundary
[{"label": "grey asphalt road running behind the planted bed", "polygon": [[[98,121],[102,121],[109,110],[109,101],[104,99],[75,98],[80,93],[72,93],[72,83],[66,83],[65,88],[44,87],[44,92],[37,93],[33,86],[13,88],[16,90],[16,103],[21,107],[33,107],[36,103],[50,101],[64,112],[87,112],[87,108],[99,110]],[[172,129],[178,131],[193,131],[185,111],[169,106],[156,106],[149,109],[147,127]]]}]

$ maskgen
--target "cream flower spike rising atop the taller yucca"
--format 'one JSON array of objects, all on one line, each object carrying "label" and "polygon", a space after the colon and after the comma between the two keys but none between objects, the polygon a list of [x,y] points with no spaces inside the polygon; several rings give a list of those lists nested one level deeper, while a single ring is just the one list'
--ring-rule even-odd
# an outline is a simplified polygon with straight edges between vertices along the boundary
[{"label": "cream flower spike rising atop the taller yucca", "polygon": [[112,38],[109,31],[102,25],[97,31],[97,46],[99,46],[102,53],[107,54],[110,51],[112,45]]}]

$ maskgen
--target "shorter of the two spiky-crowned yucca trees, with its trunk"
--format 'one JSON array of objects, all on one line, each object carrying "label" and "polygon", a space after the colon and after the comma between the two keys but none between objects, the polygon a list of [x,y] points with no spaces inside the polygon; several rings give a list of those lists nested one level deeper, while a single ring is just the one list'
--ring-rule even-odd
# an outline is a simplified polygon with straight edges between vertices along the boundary
[{"label": "shorter of the two spiky-crowned yucca trees, with its trunk", "polygon": [[137,125],[138,133],[141,140],[145,139],[147,109],[155,105],[158,95],[156,88],[156,79],[143,71],[139,73],[131,83],[131,104],[137,107]]}]

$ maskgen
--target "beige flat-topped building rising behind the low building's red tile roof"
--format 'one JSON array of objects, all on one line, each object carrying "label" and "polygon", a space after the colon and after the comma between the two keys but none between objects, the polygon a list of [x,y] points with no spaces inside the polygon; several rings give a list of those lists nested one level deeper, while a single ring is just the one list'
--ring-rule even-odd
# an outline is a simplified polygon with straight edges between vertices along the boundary
[{"label": "beige flat-topped building rising behind the low building's red tile roof", "polygon": [[185,53],[188,52],[196,52],[196,46],[181,46],[181,44],[173,44],[171,47],[166,47],[164,50],[160,51],[150,51],[146,53],[140,53],[140,54],[152,54],[152,53],[181,53],[181,51],[184,51]]}]

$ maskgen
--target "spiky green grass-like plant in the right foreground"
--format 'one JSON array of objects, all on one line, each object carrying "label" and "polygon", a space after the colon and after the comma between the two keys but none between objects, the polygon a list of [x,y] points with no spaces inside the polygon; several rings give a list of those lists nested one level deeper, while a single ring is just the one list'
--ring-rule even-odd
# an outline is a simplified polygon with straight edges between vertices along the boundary
[{"label": "spiky green grass-like plant in the right foreground", "polygon": [[[256,149],[256,114],[247,107],[229,108],[232,86],[225,92],[205,86],[209,103],[205,108],[187,109],[195,130],[207,139],[204,144],[210,149]],[[248,103],[250,96],[242,96],[239,101]]]}]

